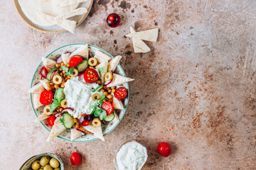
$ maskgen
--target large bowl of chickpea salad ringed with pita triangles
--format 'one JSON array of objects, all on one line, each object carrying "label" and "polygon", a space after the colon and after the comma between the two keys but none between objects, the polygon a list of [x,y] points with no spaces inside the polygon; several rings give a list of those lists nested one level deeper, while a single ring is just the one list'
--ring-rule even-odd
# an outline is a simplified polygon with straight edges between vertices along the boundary
[{"label": "large bowl of chickpea salad ringed with pita triangles", "polygon": [[42,57],[31,81],[31,105],[50,132],[70,142],[90,142],[114,130],[129,100],[128,82],[119,61],[100,47],[65,45]]}]

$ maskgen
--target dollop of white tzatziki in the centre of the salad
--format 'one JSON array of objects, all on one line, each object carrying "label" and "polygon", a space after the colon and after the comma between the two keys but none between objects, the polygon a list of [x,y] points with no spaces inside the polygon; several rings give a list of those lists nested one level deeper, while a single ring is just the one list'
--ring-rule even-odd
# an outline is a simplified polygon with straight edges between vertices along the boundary
[{"label": "dollop of white tzatziki in the centre of the salad", "polygon": [[[80,118],[82,113],[90,114],[91,106],[94,103],[92,100],[92,89],[95,89],[97,84],[84,84],[78,80],[78,77],[73,77],[65,82],[64,94],[68,101],[68,107],[74,111],[69,111],[73,118]],[[97,92],[100,94],[100,92]]]}]

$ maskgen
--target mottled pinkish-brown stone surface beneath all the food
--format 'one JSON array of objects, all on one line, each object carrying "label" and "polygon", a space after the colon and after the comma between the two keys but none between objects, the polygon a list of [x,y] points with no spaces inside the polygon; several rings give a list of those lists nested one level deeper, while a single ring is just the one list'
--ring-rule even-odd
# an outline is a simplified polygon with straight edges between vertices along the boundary
[{"label": "mottled pinkish-brown stone surface beneath all the food", "polygon": [[[97,0],[77,33],[46,34],[29,28],[14,2],[0,6],[0,166],[18,169],[34,154],[53,152],[65,169],[113,169],[124,141],[142,142],[144,169],[256,169],[256,3],[235,0]],[[117,28],[107,14],[122,16]],[[134,54],[136,30],[159,28],[147,54]],[[126,115],[106,142],[56,139],[35,123],[28,89],[41,57],[73,42],[122,55],[130,100]],[[156,147],[169,142],[172,154]],[[83,162],[71,166],[71,152]]]}]

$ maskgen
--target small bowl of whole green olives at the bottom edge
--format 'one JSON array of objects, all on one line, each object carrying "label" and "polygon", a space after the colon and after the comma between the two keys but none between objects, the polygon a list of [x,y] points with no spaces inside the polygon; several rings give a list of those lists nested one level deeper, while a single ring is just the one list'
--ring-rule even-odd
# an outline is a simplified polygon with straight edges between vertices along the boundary
[{"label": "small bowl of whole green olives at the bottom edge", "polygon": [[28,159],[20,170],[64,170],[64,164],[57,155],[44,153]]}]

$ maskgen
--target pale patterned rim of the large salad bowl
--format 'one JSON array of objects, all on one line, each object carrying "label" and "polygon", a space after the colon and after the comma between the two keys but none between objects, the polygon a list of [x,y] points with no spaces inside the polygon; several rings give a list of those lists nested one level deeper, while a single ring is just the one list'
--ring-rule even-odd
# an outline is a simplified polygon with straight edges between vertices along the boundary
[{"label": "pale patterned rim of the large salad bowl", "polygon": [[[109,55],[110,57],[112,57],[112,59],[114,58],[112,55],[110,55],[109,52],[103,50],[102,48],[97,47],[97,46],[95,46],[95,45],[90,45],[90,44],[87,44],[87,43],[73,43],[73,44],[69,44],[69,45],[64,45],[64,46],[62,46],[62,47],[58,47],[56,50],[53,50],[52,52],[50,52],[50,53],[46,56],[46,58],[49,57],[53,52],[55,52],[55,51],[57,51],[57,50],[60,50],[60,48],[68,47],[68,46],[71,46],[71,45],[88,45],[88,47],[95,47],[95,48],[97,48],[98,50],[102,50],[102,52],[105,52],[107,55]],[[43,62],[41,61],[41,62],[38,64],[38,67],[36,67],[36,71],[38,70],[39,67],[41,67],[42,64],[43,64]],[[122,66],[121,66],[120,64],[118,64],[118,65],[119,65],[119,68],[121,69],[121,72],[124,73],[124,77],[127,77],[126,74],[125,74],[125,72],[124,72],[124,69],[122,69]],[[33,77],[36,76],[36,71],[34,72]],[[32,77],[32,80],[31,80],[31,87],[33,86],[33,77]],[[128,84],[128,83],[125,83],[125,84],[127,84],[127,90],[128,90],[128,94],[127,94],[127,106],[128,106],[128,104],[129,104],[129,84]],[[34,114],[36,115],[36,118],[38,118],[38,115],[36,114],[35,108],[33,107],[33,101],[32,101],[32,94],[31,94],[31,93],[30,93],[30,101],[31,101],[31,106],[32,106],[33,112],[34,112]],[[127,111],[127,106],[124,107],[124,110],[123,110],[123,111],[124,111],[124,114],[125,114],[125,112]],[[119,125],[119,123],[121,122],[122,118],[124,117],[124,114],[119,117],[119,121],[112,127],[112,129],[111,129],[110,131],[106,132],[103,136],[105,136],[105,135],[109,134],[110,132],[112,132],[112,130],[114,130],[114,129],[117,127],[117,125]],[[41,123],[41,125],[43,125],[44,128],[46,128],[46,126],[42,123],[42,121],[40,121],[40,123]],[[48,128],[46,128],[46,130],[48,130]],[[48,130],[48,132],[50,132],[50,130]],[[87,141],[76,141],[76,140],[71,141],[71,140],[65,139],[64,137],[60,137],[59,135],[58,135],[57,137],[60,138],[60,139],[62,139],[62,140],[68,141],[68,142],[77,142],[77,143],[92,142],[92,141],[94,141],[94,140],[99,140],[99,138],[96,137],[96,138],[94,138],[94,139],[92,139],[92,140],[87,140]]]}]

